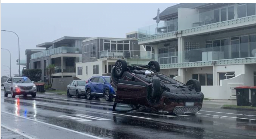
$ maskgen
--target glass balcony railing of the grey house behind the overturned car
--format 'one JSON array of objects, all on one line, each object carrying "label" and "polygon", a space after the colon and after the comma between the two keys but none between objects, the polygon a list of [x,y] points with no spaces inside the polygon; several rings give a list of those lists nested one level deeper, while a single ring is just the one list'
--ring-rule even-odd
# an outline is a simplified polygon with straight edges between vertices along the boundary
[{"label": "glass balcony railing of the grey house behind the overturned car", "polygon": [[100,58],[152,59],[151,51],[104,50]]}]

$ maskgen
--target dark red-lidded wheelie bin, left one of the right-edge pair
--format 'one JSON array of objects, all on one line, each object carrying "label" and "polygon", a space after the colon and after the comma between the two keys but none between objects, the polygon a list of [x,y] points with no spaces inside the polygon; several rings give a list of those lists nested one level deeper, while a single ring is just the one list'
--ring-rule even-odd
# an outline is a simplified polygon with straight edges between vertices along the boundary
[{"label": "dark red-lidded wheelie bin, left one of the right-edge pair", "polygon": [[250,87],[235,87],[237,106],[249,106],[249,89]]}]

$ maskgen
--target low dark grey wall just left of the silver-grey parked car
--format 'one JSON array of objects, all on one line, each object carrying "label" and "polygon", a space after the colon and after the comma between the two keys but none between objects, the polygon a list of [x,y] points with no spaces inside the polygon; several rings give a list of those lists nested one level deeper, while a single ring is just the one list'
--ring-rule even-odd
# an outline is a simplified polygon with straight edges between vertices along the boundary
[{"label": "low dark grey wall just left of the silver-grey parked car", "polygon": [[55,88],[56,90],[66,91],[68,84],[70,84],[73,80],[73,77],[53,78],[52,88]]}]

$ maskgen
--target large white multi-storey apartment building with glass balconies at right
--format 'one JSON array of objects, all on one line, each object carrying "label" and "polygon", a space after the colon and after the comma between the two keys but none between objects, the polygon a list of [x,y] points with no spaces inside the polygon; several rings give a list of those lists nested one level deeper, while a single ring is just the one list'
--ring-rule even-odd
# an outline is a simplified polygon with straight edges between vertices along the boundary
[{"label": "large white multi-storey apartment building with glass balconies at right", "polygon": [[256,86],[255,3],[181,3],[159,18],[138,29],[138,44],[154,50],[160,72],[199,80],[211,99],[236,99],[234,87]]}]

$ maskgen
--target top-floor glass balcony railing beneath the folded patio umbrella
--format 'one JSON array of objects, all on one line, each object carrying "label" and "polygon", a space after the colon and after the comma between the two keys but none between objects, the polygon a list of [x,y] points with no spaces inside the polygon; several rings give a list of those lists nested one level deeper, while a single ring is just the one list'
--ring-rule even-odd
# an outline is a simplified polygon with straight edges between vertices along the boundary
[{"label": "top-floor glass balcony railing beneath the folded patio umbrella", "polygon": [[165,21],[151,26],[138,29],[138,38],[164,34],[178,30],[178,19]]}]

